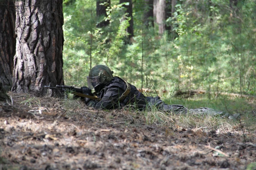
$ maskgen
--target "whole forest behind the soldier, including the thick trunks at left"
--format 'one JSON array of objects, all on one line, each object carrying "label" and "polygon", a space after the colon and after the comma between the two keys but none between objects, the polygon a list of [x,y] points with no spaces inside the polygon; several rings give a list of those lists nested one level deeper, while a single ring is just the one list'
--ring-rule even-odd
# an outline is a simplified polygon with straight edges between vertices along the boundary
[{"label": "whole forest behind the soldier, including the thick trunks at left", "polygon": [[152,92],[146,95],[168,100],[182,92],[191,97],[194,90],[208,99],[222,92],[255,96],[255,0],[0,5],[0,84],[6,91],[44,96],[49,83],[81,87],[92,66],[104,64]]}]

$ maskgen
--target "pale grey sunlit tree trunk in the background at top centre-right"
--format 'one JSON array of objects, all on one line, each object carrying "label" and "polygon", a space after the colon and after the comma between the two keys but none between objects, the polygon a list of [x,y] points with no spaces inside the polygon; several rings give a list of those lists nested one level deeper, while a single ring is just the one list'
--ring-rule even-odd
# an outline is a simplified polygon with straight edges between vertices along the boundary
[{"label": "pale grey sunlit tree trunk in the background at top centre-right", "polygon": [[154,0],[154,16],[158,24],[159,34],[163,34],[165,31],[165,6],[165,0]]}]

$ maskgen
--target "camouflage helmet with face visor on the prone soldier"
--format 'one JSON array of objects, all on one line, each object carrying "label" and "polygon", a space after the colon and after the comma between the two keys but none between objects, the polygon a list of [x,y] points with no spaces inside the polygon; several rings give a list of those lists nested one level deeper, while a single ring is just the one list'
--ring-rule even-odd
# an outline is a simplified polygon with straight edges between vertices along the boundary
[{"label": "camouflage helmet with face visor on the prone soldier", "polygon": [[110,70],[109,67],[104,65],[94,66],[89,76],[87,76],[87,83],[89,89],[93,89],[98,85],[109,83],[113,77],[113,71]]}]

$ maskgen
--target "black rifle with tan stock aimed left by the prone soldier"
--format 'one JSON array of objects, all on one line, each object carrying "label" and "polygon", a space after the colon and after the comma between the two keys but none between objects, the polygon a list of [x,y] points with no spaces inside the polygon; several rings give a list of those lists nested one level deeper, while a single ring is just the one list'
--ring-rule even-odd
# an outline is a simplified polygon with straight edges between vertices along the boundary
[{"label": "black rifle with tan stock aimed left by the prone soldier", "polygon": [[97,100],[97,101],[101,100],[99,97],[82,94],[82,90],[80,88],[77,88],[74,86],[56,85],[55,87],[51,87],[50,85],[45,85],[43,87],[47,88],[47,89],[55,89],[55,90],[61,90],[61,91],[70,90],[70,92],[76,96],[85,97],[85,98],[89,98],[89,99],[93,99],[93,100]]}]

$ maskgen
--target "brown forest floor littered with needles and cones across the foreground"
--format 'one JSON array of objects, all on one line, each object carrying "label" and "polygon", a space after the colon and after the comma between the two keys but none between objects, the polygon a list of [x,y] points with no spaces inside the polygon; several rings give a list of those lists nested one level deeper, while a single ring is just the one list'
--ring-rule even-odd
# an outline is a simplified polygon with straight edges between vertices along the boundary
[{"label": "brown forest floor littered with needles and cones across the foreground", "polygon": [[0,103],[1,169],[245,170],[256,162],[255,132],[146,125],[140,113],[83,103],[71,112],[60,99],[9,96],[12,104]]}]

